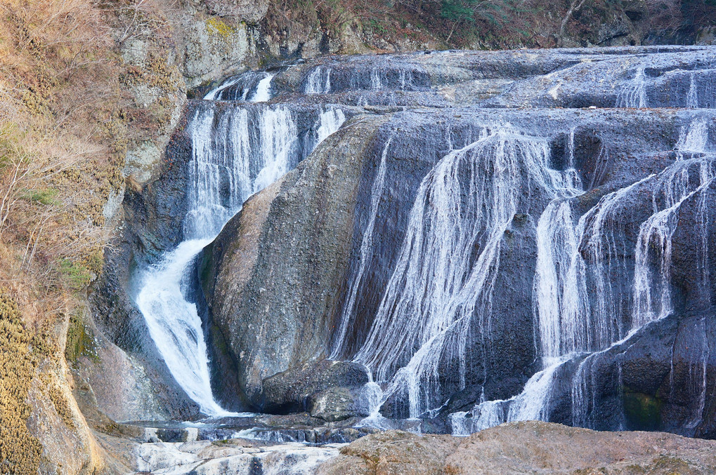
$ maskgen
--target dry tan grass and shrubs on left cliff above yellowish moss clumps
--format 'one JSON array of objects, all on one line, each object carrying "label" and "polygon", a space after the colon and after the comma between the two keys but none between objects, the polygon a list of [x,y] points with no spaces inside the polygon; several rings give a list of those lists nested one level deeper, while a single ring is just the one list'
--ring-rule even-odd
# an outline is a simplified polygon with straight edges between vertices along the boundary
[{"label": "dry tan grass and shrubs on left cliff above yellowish moss clumps", "polygon": [[121,185],[121,64],[91,1],[0,11],[0,284],[64,311],[99,270],[102,205]]}]

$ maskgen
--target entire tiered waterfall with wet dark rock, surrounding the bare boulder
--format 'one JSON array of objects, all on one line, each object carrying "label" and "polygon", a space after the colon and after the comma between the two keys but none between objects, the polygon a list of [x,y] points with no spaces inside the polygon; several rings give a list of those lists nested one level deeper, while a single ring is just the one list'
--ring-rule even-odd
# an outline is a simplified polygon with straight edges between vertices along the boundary
[{"label": "entire tiered waterfall with wet dark rock, surrounding the bare boulder", "polygon": [[[367,367],[370,382],[360,390],[348,388],[354,407],[347,412],[370,415],[350,431],[360,426],[448,428],[467,435],[526,419],[639,429],[629,419],[627,393],[634,374],[642,366],[652,371],[654,361],[654,373],[666,375],[659,373],[666,382],[660,380],[656,397],[664,407],[672,405],[670,416],[679,412],[682,417],[657,429],[712,434],[714,329],[707,305],[713,302],[713,114],[704,109],[569,109],[587,104],[697,109],[714,103],[712,69],[705,69],[713,67],[710,52],[698,61],[652,61],[644,59],[646,50],[605,50],[569,60],[563,56],[573,53],[560,52],[543,65],[521,59],[517,77],[491,63],[473,67],[471,53],[445,62],[448,67],[441,64],[442,53],[324,57],[296,64],[302,77],[294,74],[296,69],[281,76],[291,68],[282,66],[275,83],[281,95],[265,107],[243,102],[269,101],[279,68],[226,79],[205,97],[223,103],[198,107],[185,130],[193,156],[186,169],[183,242],[140,275],[137,305],[179,385],[203,412],[228,414],[211,390],[201,309],[193,300],[196,255],[246,197],[291,170],[341,127],[346,114],[361,114],[356,123],[363,127],[374,121],[379,133],[368,138],[346,131],[357,142],[341,152],[354,150],[357,143],[368,145],[368,152],[350,162],[362,167],[347,175],[357,178],[349,183],[355,185],[357,204],[353,210],[347,207],[355,213],[349,223],[354,240],[338,243],[345,245],[346,259],[338,264],[341,277],[329,280],[339,294],[332,303],[342,307],[329,309],[337,313],[326,321],[336,326],[321,328],[326,335],[318,345],[330,346],[311,353],[353,358]],[[672,52],[677,54],[692,53]],[[515,61],[511,54],[498,58]],[[609,64],[574,68],[596,72],[591,77],[565,72],[578,62]],[[534,77],[528,71],[533,68],[550,72]],[[551,81],[548,91],[541,87],[543,79]],[[488,82],[489,91],[480,89]],[[584,84],[594,90],[586,91]],[[314,97],[299,97],[301,92]],[[403,110],[360,111],[326,104],[326,99],[400,104]],[[440,109],[445,103],[455,109]],[[429,112],[416,104],[427,104]],[[497,109],[505,104],[531,110]],[[551,104],[565,109],[539,110]],[[328,164],[320,185],[333,186],[334,157],[320,158]],[[291,186],[316,185],[311,180],[287,181],[278,199]],[[288,230],[291,223],[303,224],[301,217],[284,222],[285,216],[274,211],[269,209],[266,223],[279,220]],[[225,235],[236,237],[231,232]],[[266,250],[263,243],[261,237],[261,250]],[[275,278],[260,275],[263,263],[274,263],[270,254],[262,257],[252,285]],[[291,265],[300,271],[314,262]],[[684,263],[690,269],[684,270]],[[301,278],[296,280],[304,284]],[[272,293],[296,280],[256,288],[259,295],[267,288]],[[326,285],[326,280],[310,284]],[[304,290],[296,286],[297,293]],[[207,297],[216,298],[216,293]],[[218,312],[214,303],[212,310]],[[251,312],[251,303],[247,308]],[[296,317],[271,312],[266,309],[281,322],[293,323]],[[236,315],[226,316],[235,321]],[[223,325],[226,320],[217,321]],[[278,331],[299,334],[301,325]],[[263,344],[261,336],[256,340]],[[643,348],[646,356],[639,353]],[[241,350],[232,348],[229,356],[240,360]],[[652,355],[654,360],[644,363]],[[669,387],[669,397],[662,398]],[[639,397],[642,390],[634,389]],[[266,387],[259,391],[248,396],[252,403],[276,397]],[[308,396],[303,408],[315,403]],[[604,423],[607,412],[613,414]],[[261,433],[259,438],[278,442],[291,440],[286,437],[296,432],[304,437],[295,440],[312,440],[305,437],[309,430],[258,427],[262,424],[232,436]]]}]

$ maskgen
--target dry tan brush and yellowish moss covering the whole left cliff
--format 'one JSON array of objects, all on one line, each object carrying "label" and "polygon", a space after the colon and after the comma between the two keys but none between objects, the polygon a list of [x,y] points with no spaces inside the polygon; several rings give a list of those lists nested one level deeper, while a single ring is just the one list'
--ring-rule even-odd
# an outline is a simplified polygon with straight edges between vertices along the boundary
[{"label": "dry tan brush and yellowish moss covering the whole left cliff", "polygon": [[102,265],[102,206],[121,184],[127,127],[99,6],[0,0],[0,14],[0,473],[34,474],[42,447],[26,398],[36,378],[50,381],[74,427],[49,372],[62,367],[77,293]]}]

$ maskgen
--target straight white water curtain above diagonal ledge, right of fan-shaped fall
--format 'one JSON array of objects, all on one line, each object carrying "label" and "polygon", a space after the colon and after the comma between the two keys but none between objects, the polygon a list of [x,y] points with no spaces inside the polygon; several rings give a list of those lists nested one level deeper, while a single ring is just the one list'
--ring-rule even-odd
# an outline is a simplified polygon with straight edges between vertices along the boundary
[{"label": "straight white water curtain above diagonal ledge, right of fan-shaped fall", "polygon": [[545,364],[570,353],[599,350],[621,338],[615,321],[621,314],[619,289],[609,280],[614,269],[622,268],[623,254],[615,239],[622,230],[613,217],[624,197],[642,182],[605,195],[576,224],[566,198],[553,200],[540,216],[533,304]]}]

